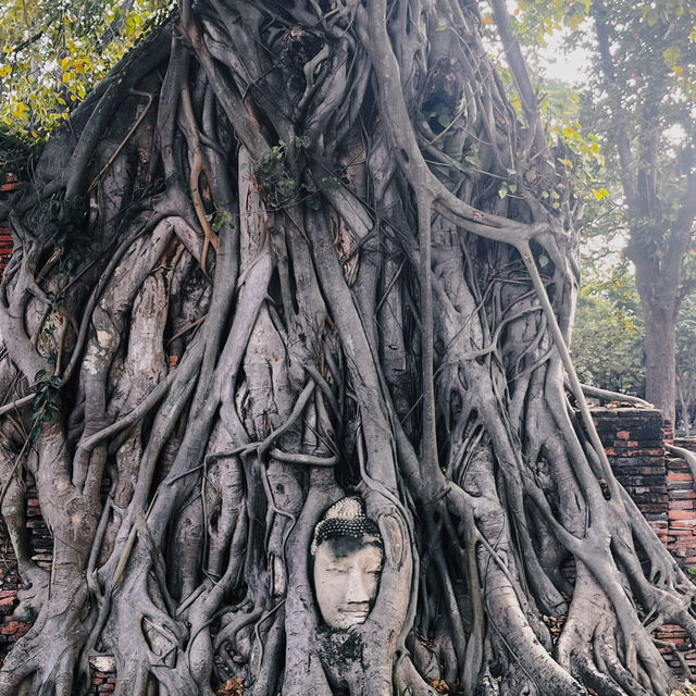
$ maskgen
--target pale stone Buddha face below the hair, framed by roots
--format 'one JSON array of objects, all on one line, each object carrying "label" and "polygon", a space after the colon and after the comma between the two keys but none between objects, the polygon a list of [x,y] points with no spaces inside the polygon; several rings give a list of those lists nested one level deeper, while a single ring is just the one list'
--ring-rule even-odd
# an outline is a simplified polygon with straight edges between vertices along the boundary
[{"label": "pale stone Buddha face below the hair, framed by roots", "polygon": [[314,554],[314,592],[324,623],[345,631],[368,618],[380,585],[383,554],[369,538],[338,536]]}]

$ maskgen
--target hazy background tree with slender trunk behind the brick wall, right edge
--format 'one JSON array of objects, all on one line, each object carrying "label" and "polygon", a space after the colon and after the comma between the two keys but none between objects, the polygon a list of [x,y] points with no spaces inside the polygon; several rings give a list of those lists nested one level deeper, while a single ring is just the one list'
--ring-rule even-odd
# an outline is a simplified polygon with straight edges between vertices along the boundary
[{"label": "hazy background tree with slender trunk behind the brick wall, right edge", "polygon": [[696,9],[679,0],[597,0],[591,14],[593,127],[611,144],[621,179],[626,256],[645,316],[646,399],[673,421],[675,324],[693,289],[685,266],[696,216]]}]

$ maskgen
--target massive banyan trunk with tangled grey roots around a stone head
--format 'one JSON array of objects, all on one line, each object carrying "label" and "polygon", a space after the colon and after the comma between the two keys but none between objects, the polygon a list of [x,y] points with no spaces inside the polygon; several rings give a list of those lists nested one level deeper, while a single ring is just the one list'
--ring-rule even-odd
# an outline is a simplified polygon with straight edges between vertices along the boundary
[{"label": "massive banyan trunk with tangled grey roots around a stone head", "polygon": [[676,685],[695,588],[574,375],[572,153],[492,8],[506,79],[475,0],[182,0],[53,135],[0,211],[1,696],[96,654],[128,696]]}]

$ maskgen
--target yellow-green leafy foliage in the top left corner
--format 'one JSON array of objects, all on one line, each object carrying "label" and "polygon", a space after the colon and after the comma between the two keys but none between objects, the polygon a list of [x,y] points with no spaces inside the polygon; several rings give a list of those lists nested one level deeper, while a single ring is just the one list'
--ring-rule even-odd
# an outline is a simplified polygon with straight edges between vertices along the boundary
[{"label": "yellow-green leafy foliage in the top left corner", "polygon": [[0,135],[44,140],[173,5],[166,0],[3,2]]}]

